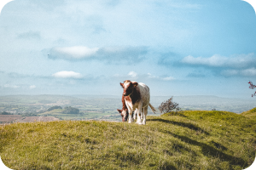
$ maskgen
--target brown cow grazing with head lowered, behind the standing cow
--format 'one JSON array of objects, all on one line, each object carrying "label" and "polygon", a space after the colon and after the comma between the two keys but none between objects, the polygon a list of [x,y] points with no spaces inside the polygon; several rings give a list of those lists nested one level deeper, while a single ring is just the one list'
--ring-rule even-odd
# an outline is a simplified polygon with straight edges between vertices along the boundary
[{"label": "brown cow grazing with head lowered, behind the standing cow", "polygon": [[[122,121],[126,122],[128,119],[129,112],[128,112],[127,106],[125,105],[125,96],[124,95],[122,95],[122,104],[123,104],[122,110],[117,109],[117,111],[119,111],[119,114],[122,116]],[[155,109],[154,109],[153,105],[150,105],[150,103],[149,103],[149,106],[155,114]],[[143,112],[144,112],[144,110],[143,110]],[[133,120],[135,120],[137,117],[137,109],[134,112],[132,112],[132,116],[133,116]],[[141,119],[143,119],[143,114],[141,114]]]}]

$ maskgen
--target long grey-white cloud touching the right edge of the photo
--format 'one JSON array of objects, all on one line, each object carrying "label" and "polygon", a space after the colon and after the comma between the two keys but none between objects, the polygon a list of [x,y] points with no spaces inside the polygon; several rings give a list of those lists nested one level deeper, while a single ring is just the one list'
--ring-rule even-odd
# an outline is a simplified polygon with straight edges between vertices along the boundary
[{"label": "long grey-white cloud touching the right edge of the photo", "polygon": [[181,60],[182,64],[219,67],[219,68],[249,68],[256,64],[256,56],[254,54],[240,54],[236,56],[224,57],[218,54],[209,58],[193,57],[191,55]]}]

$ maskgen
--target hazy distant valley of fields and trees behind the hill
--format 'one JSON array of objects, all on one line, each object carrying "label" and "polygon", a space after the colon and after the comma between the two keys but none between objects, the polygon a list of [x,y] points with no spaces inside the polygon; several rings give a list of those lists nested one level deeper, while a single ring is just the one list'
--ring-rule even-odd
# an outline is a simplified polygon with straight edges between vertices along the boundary
[{"label": "hazy distant valley of fields and trees behind the hill", "polygon": [[[172,96],[151,96],[158,106]],[[183,111],[231,111],[237,114],[256,107],[254,99],[229,99],[216,96],[174,96]],[[55,106],[59,106],[57,109]],[[66,108],[66,109],[65,109]],[[67,108],[77,109],[69,113]],[[0,123],[48,122],[56,120],[106,120],[121,122],[117,109],[121,96],[111,95],[12,95],[0,96]],[[148,115],[154,113],[148,109]],[[160,116],[160,111],[154,116]]]}]

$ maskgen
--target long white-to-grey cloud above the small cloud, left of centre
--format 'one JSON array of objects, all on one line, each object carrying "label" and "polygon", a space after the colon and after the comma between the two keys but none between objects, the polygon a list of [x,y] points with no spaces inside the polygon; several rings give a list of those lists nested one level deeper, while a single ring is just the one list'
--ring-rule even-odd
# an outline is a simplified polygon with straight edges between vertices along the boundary
[{"label": "long white-to-grey cloud above the small cloud, left of centre", "polygon": [[125,47],[125,48],[88,48],[85,46],[73,46],[65,48],[51,48],[49,59],[66,59],[72,61],[97,59],[108,62],[119,63],[125,61],[127,64],[136,63],[143,59],[148,53],[146,47]]}]

